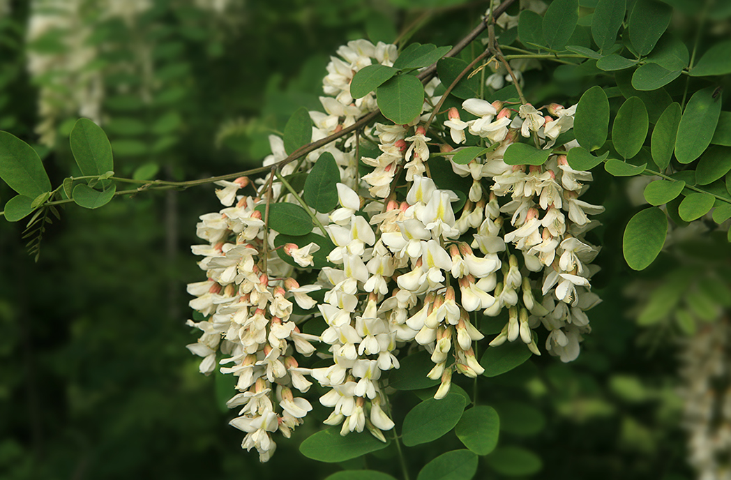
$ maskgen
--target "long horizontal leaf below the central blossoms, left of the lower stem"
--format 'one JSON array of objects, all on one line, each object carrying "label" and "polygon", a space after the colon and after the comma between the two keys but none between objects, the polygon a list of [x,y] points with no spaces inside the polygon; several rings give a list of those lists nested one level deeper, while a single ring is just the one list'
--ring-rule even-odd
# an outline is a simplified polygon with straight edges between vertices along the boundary
[{"label": "long horizontal leaf below the central blossoms, left of the lower stem", "polygon": [[377,440],[370,432],[351,432],[341,436],[340,427],[332,427],[310,435],[300,443],[300,452],[307,458],[318,462],[344,462],[385,449],[390,440],[383,443]]}]

